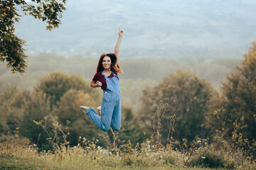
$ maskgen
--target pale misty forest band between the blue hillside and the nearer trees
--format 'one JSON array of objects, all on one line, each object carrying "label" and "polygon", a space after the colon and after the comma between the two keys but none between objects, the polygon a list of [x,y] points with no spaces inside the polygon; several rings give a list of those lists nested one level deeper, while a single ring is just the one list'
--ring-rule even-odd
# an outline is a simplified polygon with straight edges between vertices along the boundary
[{"label": "pale misty forest band between the blue hillside and the nearer trees", "polygon": [[[120,64],[124,74],[120,74],[122,101],[132,105],[134,111],[139,111],[140,96],[146,86],[155,86],[169,74],[176,70],[191,70],[198,77],[209,81],[214,88],[219,88],[224,81],[225,74],[233,72],[240,59],[219,58],[215,60],[174,60],[155,58],[124,58]],[[7,85],[16,85],[18,89],[33,90],[41,77],[50,72],[59,70],[65,74],[79,74],[87,83],[90,83],[97,67],[97,59],[82,56],[63,57],[61,55],[41,53],[28,57],[28,69],[23,75],[11,74],[6,64],[0,62],[0,93],[5,91]]]}]

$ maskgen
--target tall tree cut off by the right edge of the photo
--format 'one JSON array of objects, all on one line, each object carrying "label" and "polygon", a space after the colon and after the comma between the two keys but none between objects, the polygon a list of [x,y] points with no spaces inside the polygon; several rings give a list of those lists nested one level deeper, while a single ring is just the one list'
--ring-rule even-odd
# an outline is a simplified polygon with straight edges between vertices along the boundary
[{"label": "tall tree cut off by the right edge of the photo", "polygon": [[233,124],[243,117],[242,133],[249,140],[256,138],[256,42],[244,55],[237,71],[228,74],[217,99],[216,111],[208,114],[206,124],[215,130],[225,128],[231,137]]}]

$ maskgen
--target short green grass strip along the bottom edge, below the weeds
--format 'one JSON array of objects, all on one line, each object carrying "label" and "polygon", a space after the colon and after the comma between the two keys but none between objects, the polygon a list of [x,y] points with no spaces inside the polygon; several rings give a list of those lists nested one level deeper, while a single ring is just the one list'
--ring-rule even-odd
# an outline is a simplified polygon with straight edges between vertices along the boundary
[{"label": "short green grass strip along the bottom edge, below the weeds", "polygon": [[[74,157],[75,158],[75,157]],[[174,165],[161,166],[128,166],[128,165],[99,165],[95,162],[82,162],[82,160],[60,160],[54,157],[43,157],[36,154],[16,156],[14,154],[0,154],[0,169],[203,169],[186,168]]]}]

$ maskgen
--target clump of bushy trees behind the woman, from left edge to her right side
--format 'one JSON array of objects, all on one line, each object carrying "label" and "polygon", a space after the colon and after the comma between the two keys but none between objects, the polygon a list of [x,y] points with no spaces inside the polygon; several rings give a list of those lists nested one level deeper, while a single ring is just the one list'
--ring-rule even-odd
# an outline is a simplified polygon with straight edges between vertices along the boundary
[{"label": "clump of bushy trees behind the woman, from left edge to her right side", "polygon": [[[33,91],[8,86],[1,93],[0,102],[1,141],[6,140],[7,132],[14,135],[18,130],[22,137],[37,144],[40,149],[48,150],[52,147],[48,139],[54,134],[52,129],[56,123],[68,134],[70,146],[77,145],[80,136],[89,140],[101,138],[99,128],[79,108],[85,104],[94,108],[100,106],[100,95],[77,74],[51,72],[41,78]],[[124,104],[122,113],[122,129],[125,131],[120,136],[124,140],[132,137],[134,142],[142,141],[138,132],[141,129],[137,128],[139,123],[134,118],[132,108]],[[40,126],[38,123],[44,124]],[[99,145],[107,147],[102,140]]]}]

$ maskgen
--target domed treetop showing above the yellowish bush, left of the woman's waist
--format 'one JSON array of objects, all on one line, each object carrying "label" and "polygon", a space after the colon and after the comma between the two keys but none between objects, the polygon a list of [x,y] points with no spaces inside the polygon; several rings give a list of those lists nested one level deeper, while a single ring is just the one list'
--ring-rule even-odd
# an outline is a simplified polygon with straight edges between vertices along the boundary
[{"label": "domed treetop showing above the yellowish bush, left of the woman's waist", "polygon": [[[50,106],[56,105],[57,101],[70,89],[76,89],[89,94],[94,101],[98,101],[99,94],[92,89],[82,77],[77,74],[65,74],[63,72],[51,72],[48,77],[42,77],[36,91],[43,91],[50,99]],[[85,103],[87,101],[84,101]],[[84,103],[84,104],[85,104]]]}]

